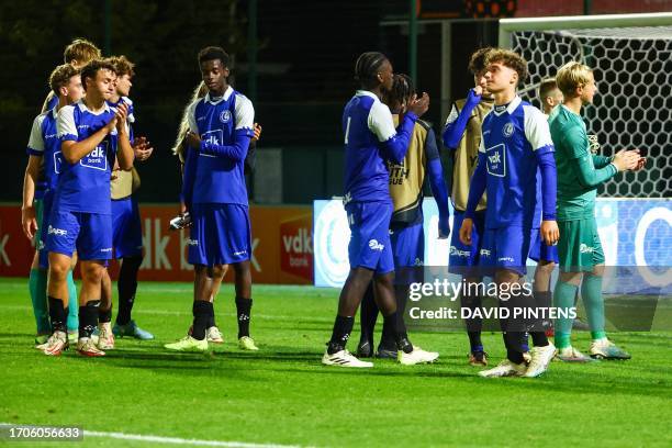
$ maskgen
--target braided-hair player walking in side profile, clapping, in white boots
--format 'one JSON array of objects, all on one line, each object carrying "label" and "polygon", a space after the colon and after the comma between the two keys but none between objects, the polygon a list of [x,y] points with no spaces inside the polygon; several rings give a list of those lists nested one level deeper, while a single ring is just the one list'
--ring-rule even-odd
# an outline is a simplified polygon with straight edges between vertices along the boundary
[{"label": "braided-hair player walking in side profile, clapping, in white boots", "polygon": [[345,197],[351,236],[348,245],[350,272],[338,300],[338,312],[332,338],[322,357],[326,366],[366,368],[373,363],[360,361],[346,350],[352,331],[355,313],[373,280],[376,302],[391,326],[401,363],[414,365],[435,359],[413,347],[397,327],[394,298],[394,261],[390,245],[390,173],[385,161],[401,164],[408,148],[415,122],[429,107],[429,97],[413,97],[406,113],[395,130],[390,109],[381,102],[392,88],[392,64],[378,52],[363,53],[355,64],[356,79],[361,89],[343,112],[345,134]]}]

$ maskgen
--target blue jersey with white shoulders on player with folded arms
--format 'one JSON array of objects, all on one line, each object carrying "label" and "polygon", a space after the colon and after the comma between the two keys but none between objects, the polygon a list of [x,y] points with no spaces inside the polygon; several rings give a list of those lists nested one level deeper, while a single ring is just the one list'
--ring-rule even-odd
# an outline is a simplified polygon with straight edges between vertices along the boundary
[{"label": "blue jersey with white shoulders on player with folded arms", "polygon": [[251,102],[232,87],[224,96],[208,93],[189,105],[189,128],[201,137],[184,163],[182,195],[187,204],[247,205],[245,157],[254,136]]}]

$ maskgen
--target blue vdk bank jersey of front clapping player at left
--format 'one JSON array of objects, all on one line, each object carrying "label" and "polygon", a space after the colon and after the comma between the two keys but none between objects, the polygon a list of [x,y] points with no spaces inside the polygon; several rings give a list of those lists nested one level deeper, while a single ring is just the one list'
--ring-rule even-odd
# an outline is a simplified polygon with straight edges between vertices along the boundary
[{"label": "blue vdk bank jersey of front clapping player at left", "polygon": [[[105,103],[92,113],[83,102],[66,105],[58,112],[57,128],[61,142],[81,142],[114,117]],[[110,175],[116,155],[116,130],[75,164],[64,159],[54,209],[60,211],[110,214]]]}]

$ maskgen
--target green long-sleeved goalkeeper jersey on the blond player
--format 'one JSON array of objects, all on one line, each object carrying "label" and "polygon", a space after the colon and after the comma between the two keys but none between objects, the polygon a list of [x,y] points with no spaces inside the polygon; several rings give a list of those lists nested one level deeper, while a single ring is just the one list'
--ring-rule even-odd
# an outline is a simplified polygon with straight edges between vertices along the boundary
[{"label": "green long-sleeved goalkeeper jersey on the blond player", "polygon": [[618,172],[612,159],[591,153],[585,123],[563,104],[549,117],[558,168],[558,221],[593,217],[597,187]]}]

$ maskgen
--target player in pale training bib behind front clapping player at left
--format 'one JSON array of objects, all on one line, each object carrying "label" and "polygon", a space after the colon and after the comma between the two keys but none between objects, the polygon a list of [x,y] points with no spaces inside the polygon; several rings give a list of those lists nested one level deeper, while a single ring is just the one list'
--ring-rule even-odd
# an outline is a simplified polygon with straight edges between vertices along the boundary
[{"label": "player in pale training bib behind front clapping player at left", "polygon": [[[144,161],[152,156],[152,148],[146,137],[135,137],[133,124],[135,115],[133,101],[128,98],[131,79],[134,76],[133,67],[125,56],[113,56],[108,59],[116,71],[114,80],[114,93],[108,100],[108,104],[115,111],[120,103],[126,104],[128,113],[126,122],[128,136],[135,155],[135,160]],[[121,259],[119,272],[119,312],[114,328],[112,321],[112,280],[109,271],[103,272],[103,291],[99,309],[99,341],[98,347],[102,350],[114,348],[114,336],[131,336],[141,340],[154,339],[154,335],[138,327],[131,318],[131,311],[137,291],[137,271],[143,262],[143,232],[137,201],[133,193],[139,186],[139,175],[135,168],[130,171],[123,170],[115,164],[110,181],[112,198],[112,244],[114,257]]]}]

